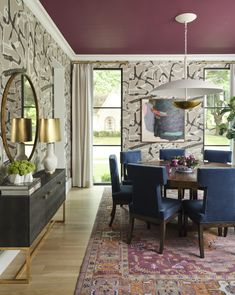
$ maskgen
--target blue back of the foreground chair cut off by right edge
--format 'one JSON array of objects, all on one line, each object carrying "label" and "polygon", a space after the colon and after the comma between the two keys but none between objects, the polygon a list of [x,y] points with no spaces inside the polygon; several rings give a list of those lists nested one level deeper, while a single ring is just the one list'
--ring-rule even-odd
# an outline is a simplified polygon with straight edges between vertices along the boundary
[{"label": "blue back of the foreground chair cut off by right edge", "polygon": [[198,168],[197,177],[205,188],[203,222],[235,221],[235,168]]}]

